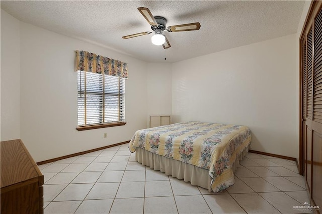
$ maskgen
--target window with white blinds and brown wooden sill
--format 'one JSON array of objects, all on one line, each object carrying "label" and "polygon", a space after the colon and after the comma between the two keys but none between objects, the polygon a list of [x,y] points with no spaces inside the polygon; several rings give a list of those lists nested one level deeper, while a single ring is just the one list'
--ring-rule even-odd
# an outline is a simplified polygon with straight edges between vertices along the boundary
[{"label": "window with white blinds and brown wooden sill", "polygon": [[125,78],[77,71],[77,130],[125,125]]}]

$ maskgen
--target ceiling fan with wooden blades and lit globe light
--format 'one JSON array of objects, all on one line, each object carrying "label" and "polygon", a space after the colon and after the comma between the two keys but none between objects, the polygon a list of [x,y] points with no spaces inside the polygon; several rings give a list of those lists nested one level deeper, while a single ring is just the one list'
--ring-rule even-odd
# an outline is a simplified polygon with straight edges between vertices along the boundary
[{"label": "ceiling fan with wooden blades and lit globe light", "polygon": [[162,34],[164,30],[167,30],[168,32],[178,32],[178,31],[195,31],[200,29],[200,23],[194,22],[194,23],[188,23],[188,24],[182,24],[182,25],[173,25],[168,26],[166,28],[167,20],[164,17],[160,16],[153,16],[151,11],[148,8],[139,7],[137,8],[140,13],[144,16],[144,18],[148,21],[148,23],[151,25],[151,29],[153,31],[145,31],[141,33],[131,34],[127,36],[123,36],[123,39],[129,39],[137,36],[143,36],[147,34],[151,34],[155,32],[155,35],[152,36],[151,40],[154,45],[162,45],[164,49],[170,48],[171,45],[166,37],[166,35]]}]

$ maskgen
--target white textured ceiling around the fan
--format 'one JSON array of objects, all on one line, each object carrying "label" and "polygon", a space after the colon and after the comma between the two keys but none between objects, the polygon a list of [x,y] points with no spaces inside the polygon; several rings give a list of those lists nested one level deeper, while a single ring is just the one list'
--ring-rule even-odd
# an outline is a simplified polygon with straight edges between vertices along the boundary
[{"label": "white textured ceiling around the fan", "polygon": [[[92,41],[147,62],[177,62],[296,33],[304,1],[1,1],[17,19],[63,35]],[[147,7],[167,26],[200,22],[198,31],[165,32],[171,47],[151,36],[137,10]]]}]

